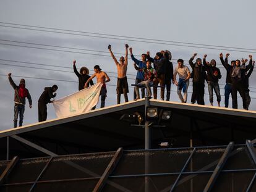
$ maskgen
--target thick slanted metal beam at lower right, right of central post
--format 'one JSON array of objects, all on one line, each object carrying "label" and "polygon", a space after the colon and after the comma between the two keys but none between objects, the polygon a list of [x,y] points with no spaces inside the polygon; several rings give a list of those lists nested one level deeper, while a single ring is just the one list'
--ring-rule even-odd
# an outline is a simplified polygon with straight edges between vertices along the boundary
[{"label": "thick slanted metal beam at lower right, right of central post", "polygon": [[211,188],[213,188],[213,185],[216,182],[216,179],[217,179],[218,175],[220,174],[221,169],[223,168],[224,164],[226,163],[228,156],[231,153],[231,151],[233,150],[233,148],[234,148],[234,143],[230,142],[228,144],[227,148],[225,149],[225,151],[223,152],[223,155],[221,156],[220,161],[216,165],[215,170],[211,174],[211,177],[208,180],[208,183],[205,186],[205,189],[203,190],[203,192],[211,191]]}]

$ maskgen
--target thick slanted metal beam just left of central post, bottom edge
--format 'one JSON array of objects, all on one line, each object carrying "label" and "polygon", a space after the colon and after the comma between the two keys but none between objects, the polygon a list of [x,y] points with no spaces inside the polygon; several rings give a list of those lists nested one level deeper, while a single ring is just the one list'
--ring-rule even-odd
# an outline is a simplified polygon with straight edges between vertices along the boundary
[{"label": "thick slanted metal beam just left of central post, bottom edge", "polygon": [[106,184],[106,181],[108,180],[109,175],[113,172],[117,163],[121,159],[122,152],[123,152],[122,148],[117,149],[116,154],[114,154],[114,156],[111,159],[111,161],[109,162],[108,167],[106,168],[105,172],[103,173],[103,175],[101,175],[101,178],[98,181],[98,183],[96,184],[93,192],[98,192],[103,189],[103,186]]}]

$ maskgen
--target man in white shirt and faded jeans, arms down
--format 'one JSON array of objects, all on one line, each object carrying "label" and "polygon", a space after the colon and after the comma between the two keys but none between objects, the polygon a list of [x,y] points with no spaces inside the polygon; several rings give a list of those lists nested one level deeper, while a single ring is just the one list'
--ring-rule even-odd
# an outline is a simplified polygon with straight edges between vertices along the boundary
[{"label": "man in white shirt and faded jeans, arms down", "polygon": [[[177,94],[181,102],[187,102],[187,89],[189,88],[189,78],[190,78],[190,70],[184,65],[184,61],[182,59],[177,60],[177,66],[174,69],[174,77],[173,83],[177,86]],[[176,80],[176,75],[179,75],[179,81]],[[181,91],[184,93],[184,97],[181,94]]]}]

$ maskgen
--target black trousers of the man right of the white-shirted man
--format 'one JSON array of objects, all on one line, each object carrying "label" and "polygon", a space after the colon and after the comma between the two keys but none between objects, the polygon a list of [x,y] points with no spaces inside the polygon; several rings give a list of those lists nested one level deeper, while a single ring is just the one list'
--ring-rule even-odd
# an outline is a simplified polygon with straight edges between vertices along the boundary
[{"label": "black trousers of the man right of the white-shirted man", "polygon": [[204,105],[205,104],[205,100],[203,99],[204,95],[205,95],[205,84],[193,82],[193,92],[191,96],[191,102],[195,103],[195,101],[197,101],[197,104]]}]

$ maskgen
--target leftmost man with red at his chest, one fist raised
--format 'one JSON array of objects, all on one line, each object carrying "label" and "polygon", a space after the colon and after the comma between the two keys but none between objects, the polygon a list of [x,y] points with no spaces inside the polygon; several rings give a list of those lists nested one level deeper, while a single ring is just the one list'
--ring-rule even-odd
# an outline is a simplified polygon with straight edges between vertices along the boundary
[{"label": "leftmost man with red at his chest, one fist raised", "polygon": [[25,80],[22,78],[20,80],[20,85],[17,86],[11,77],[12,73],[8,74],[8,79],[11,86],[14,88],[14,128],[17,127],[18,116],[20,116],[19,127],[22,126],[23,123],[23,114],[25,112],[25,104],[26,98],[28,98],[29,107],[32,107],[32,99],[29,94],[27,88],[25,88],[26,83]]}]

